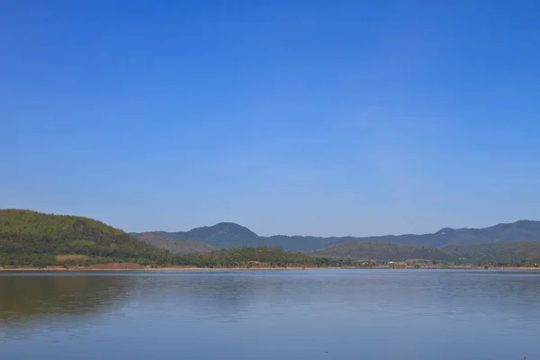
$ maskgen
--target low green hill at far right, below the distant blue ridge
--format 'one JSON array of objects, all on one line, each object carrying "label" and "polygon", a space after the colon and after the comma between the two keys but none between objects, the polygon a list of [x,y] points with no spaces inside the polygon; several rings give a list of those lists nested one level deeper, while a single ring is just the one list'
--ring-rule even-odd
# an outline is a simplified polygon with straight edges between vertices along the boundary
[{"label": "low green hill at far right, below the distant blue ridge", "polygon": [[471,263],[540,263],[540,242],[448,245],[442,250]]}]

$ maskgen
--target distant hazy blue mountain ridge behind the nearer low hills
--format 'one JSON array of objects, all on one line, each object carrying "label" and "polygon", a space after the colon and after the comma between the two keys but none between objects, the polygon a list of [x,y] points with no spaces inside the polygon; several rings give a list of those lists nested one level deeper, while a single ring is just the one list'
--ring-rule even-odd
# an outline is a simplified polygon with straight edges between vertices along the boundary
[{"label": "distant hazy blue mountain ridge behind the nearer low hills", "polygon": [[486,244],[540,241],[540,221],[519,220],[483,229],[440,229],[423,235],[386,235],[365,238],[310,236],[260,237],[250,229],[235,223],[221,222],[214,226],[180,232],[159,232],[165,238],[200,240],[212,247],[283,247],[288,251],[313,251],[353,241],[383,241],[398,245],[445,247],[455,244]]}]

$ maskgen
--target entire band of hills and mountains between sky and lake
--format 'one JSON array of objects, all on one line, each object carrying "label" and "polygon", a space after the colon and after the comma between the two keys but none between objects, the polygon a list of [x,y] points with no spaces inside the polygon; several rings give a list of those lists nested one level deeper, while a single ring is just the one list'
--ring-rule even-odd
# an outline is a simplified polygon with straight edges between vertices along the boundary
[{"label": "entire band of hills and mountains between sky and lake", "polygon": [[230,222],[184,232],[126,234],[89,218],[0,210],[0,266],[339,266],[351,260],[415,259],[537,266],[539,239],[540,222],[527,220],[484,229],[446,228],[424,235],[259,237]]}]

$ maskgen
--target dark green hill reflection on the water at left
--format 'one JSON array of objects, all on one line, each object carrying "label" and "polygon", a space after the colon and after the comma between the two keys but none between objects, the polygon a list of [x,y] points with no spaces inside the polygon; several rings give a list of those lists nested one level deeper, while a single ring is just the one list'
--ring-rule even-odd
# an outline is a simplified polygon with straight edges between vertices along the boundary
[{"label": "dark green hill reflection on the water at left", "polygon": [[78,323],[121,307],[122,276],[0,276],[0,338],[25,338],[31,329]]}]

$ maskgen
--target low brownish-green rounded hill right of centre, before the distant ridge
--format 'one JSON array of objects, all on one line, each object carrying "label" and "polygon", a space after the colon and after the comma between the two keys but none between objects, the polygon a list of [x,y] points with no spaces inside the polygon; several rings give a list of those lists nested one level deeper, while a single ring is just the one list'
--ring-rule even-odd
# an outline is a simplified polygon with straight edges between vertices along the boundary
[{"label": "low brownish-green rounded hill right of centre, before the distant ridge", "polygon": [[405,261],[413,259],[455,262],[452,254],[437,247],[404,246],[382,241],[347,242],[321,248],[311,255],[316,257],[352,258],[356,260]]}]

